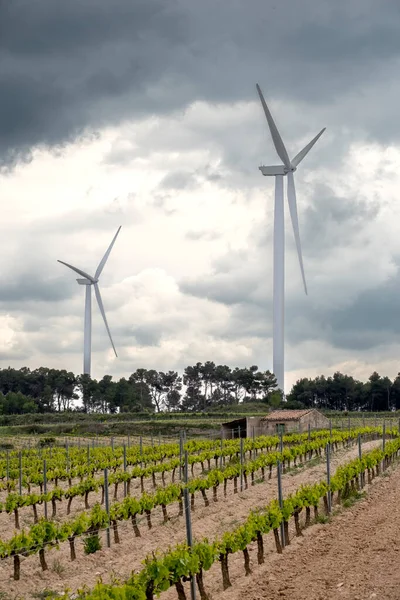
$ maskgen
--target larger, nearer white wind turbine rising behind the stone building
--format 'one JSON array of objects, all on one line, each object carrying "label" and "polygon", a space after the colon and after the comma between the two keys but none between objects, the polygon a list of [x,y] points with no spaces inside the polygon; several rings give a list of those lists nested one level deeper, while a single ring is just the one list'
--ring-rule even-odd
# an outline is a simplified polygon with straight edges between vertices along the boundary
[{"label": "larger, nearer white wind turbine rising behind the stone building", "polygon": [[284,392],[285,380],[285,354],[284,354],[284,304],[285,304],[285,221],[283,199],[283,177],[287,175],[287,198],[289,213],[296,241],[297,255],[299,257],[300,271],[303,279],[304,291],[307,295],[307,284],[304,275],[303,256],[301,252],[299,220],[297,217],[296,190],[294,187],[293,173],[303,158],[325,131],[321,129],[318,135],[311,140],[296,156],[290,160],[279,131],[265,102],[260,86],[257,84],[258,95],[264,109],[269,130],[275,150],[282,161],[282,165],[259,167],[263,175],[275,177],[275,209],[274,209],[274,291],[273,291],[273,371],[278,387]]}]

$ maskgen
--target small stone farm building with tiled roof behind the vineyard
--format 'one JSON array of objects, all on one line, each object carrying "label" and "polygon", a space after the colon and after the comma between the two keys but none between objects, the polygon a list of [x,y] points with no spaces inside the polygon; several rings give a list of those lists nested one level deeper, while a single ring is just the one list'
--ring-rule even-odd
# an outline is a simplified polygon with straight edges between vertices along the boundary
[{"label": "small stone farm building with tiled roof behind the vineyard", "polygon": [[308,426],[311,429],[327,429],[329,419],[315,408],[273,410],[265,417],[243,417],[222,423],[221,436],[223,439],[230,439],[253,435],[276,435],[280,431],[301,433],[307,431]]}]

